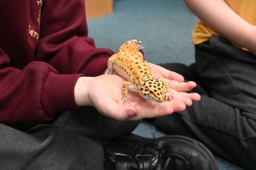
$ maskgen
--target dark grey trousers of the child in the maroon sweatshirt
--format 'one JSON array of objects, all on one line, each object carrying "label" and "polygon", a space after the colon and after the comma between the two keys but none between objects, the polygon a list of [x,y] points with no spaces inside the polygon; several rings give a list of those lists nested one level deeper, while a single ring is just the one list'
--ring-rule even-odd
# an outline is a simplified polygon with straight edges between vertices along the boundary
[{"label": "dark grey trousers of the child in the maroon sweatshirt", "polygon": [[49,124],[0,124],[0,169],[102,170],[102,144],[138,124],[105,117],[93,107],[67,111]]}]

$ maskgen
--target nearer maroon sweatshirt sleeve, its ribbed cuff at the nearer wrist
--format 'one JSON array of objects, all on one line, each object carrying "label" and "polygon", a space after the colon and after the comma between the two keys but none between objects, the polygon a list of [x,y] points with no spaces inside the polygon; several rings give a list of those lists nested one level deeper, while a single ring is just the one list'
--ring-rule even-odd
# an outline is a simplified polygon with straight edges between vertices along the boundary
[{"label": "nearer maroon sweatshirt sleeve, its ribbed cuff at the nearer wrist", "polygon": [[30,62],[22,70],[6,67],[8,56],[0,48],[0,122],[40,123],[57,112],[76,109],[74,86],[82,76],[59,75],[45,62]]}]

